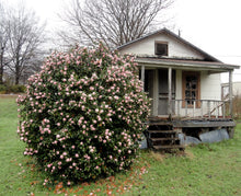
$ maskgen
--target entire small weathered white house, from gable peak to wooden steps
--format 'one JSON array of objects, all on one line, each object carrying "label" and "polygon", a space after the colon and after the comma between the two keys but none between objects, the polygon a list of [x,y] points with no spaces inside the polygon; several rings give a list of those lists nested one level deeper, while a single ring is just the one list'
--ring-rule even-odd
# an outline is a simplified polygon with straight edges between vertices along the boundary
[{"label": "entire small weathered white house, from gable peak to wooden steps", "polygon": [[[190,142],[233,136],[232,71],[227,65],[167,28],[119,46],[136,56],[144,90],[152,99],[148,146],[183,149]],[[221,100],[220,73],[229,72],[229,99]]]}]

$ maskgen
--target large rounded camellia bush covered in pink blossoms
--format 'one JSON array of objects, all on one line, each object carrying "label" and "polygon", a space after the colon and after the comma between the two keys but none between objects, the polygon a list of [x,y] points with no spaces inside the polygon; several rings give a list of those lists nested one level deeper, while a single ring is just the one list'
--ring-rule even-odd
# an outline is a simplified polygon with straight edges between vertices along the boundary
[{"label": "large rounded camellia bush covered in pink blossoms", "polygon": [[24,154],[68,185],[128,169],[150,107],[134,58],[102,45],[51,54],[18,104]]}]

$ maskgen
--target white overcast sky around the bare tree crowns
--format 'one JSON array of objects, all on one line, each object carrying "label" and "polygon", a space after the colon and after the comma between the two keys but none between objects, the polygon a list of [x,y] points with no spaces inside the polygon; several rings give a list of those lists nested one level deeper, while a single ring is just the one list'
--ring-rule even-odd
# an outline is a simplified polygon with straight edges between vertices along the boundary
[{"label": "white overcast sky around the bare tree crowns", "polygon": [[[22,0],[0,0],[18,4]],[[47,21],[48,30],[58,25],[56,16],[62,3],[70,0],[24,0],[36,14]],[[241,66],[241,0],[175,0],[169,14],[174,33],[227,64]],[[172,31],[172,30],[171,30]],[[227,82],[227,77],[222,76]],[[241,81],[236,70],[233,81]]]}]

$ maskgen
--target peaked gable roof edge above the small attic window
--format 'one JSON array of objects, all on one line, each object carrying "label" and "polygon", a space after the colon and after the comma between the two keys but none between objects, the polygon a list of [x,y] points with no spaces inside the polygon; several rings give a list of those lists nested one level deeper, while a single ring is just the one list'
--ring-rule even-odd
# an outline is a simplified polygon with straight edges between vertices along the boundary
[{"label": "peaked gable roof edge above the small attic window", "polygon": [[207,54],[206,51],[202,50],[200,48],[194,46],[193,44],[191,44],[190,42],[185,41],[184,38],[180,37],[179,35],[174,34],[173,32],[169,31],[168,28],[162,28],[162,30],[159,30],[157,32],[153,32],[153,33],[150,33],[144,37],[140,37],[140,38],[137,38],[135,41],[130,41],[119,47],[117,47],[116,49],[117,50],[122,50],[123,48],[125,47],[128,47],[130,46],[131,44],[135,44],[135,43],[138,43],[140,41],[144,41],[146,38],[149,38],[151,36],[154,36],[154,35],[158,35],[158,34],[167,34],[175,39],[177,39],[180,43],[183,43],[184,45],[188,46],[190,48],[192,48],[193,50],[195,51],[198,51],[199,54],[202,54],[204,57],[205,57],[205,60],[206,61],[215,61],[215,62],[221,62],[219,59],[213,57],[211,55]]}]

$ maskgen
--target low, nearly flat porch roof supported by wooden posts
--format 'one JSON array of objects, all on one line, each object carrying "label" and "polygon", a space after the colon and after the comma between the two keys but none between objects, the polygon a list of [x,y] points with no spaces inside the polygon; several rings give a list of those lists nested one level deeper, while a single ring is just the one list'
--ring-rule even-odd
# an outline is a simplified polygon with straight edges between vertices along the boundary
[{"label": "low, nearly flat porch roof supported by wooden posts", "polygon": [[207,70],[210,73],[227,72],[239,69],[240,66],[223,64],[220,61],[202,61],[192,59],[170,59],[157,57],[137,57],[136,62],[148,68],[173,68],[183,70]]}]

